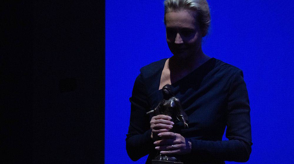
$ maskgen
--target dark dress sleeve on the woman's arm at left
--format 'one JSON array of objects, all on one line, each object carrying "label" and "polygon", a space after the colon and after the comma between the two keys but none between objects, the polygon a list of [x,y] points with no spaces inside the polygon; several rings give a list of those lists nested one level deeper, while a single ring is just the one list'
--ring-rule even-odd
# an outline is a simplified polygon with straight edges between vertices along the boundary
[{"label": "dark dress sleeve on the woman's arm at left", "polygon": [[146,112],[150,109],[146,94],[146,87],[140,74],[136,78],[130,98],[131,117],[126,138],[126,150],[133,161],[149,154],[154,147],[151,139],[149,116],[146,115]]}]

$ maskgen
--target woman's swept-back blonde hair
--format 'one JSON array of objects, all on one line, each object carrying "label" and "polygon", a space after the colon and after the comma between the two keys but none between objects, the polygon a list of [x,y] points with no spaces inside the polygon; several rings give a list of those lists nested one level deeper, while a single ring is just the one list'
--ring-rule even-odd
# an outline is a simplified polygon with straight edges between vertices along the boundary
[{"label": "woman's swept-back blonde hair", "polygon": [[166,13],[171,11],[179,11],[189,9],[195,11],[197,14],[196,20],[198,20],[203,35],[208,32],[210,25],[210,11],[206,0],[165,0],[164,1],[164,24],[166,24]]}]

